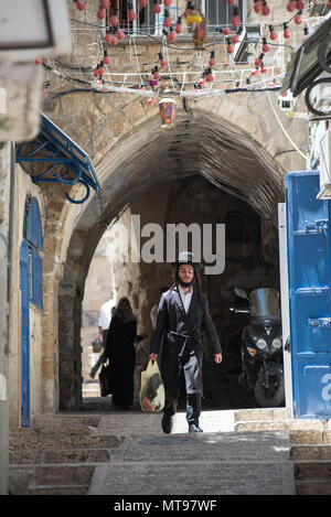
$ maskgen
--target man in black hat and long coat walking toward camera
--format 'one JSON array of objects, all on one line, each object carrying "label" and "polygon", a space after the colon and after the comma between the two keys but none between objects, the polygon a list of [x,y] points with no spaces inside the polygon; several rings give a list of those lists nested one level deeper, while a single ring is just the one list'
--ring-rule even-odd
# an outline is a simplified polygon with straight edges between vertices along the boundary
[{"label": "man in black hat and long coat walking toward camera", "polygon": [[[216,364],[222,362],[222,348],[209,313],[209,302],[200,292],[193,254],[180,254],[175,266],[175,284],[161,297],[156,326],[150,342],[150,359],[157,360],[162,343],[161,375],[166,388],[162,429],[170,433],[180,391],[181,371],[185,378],[186,420],[190,432],[202,432],[199,427],[203,396],[202,335],[206,332]],[[192,286],[195,278],[197,289]]]}]

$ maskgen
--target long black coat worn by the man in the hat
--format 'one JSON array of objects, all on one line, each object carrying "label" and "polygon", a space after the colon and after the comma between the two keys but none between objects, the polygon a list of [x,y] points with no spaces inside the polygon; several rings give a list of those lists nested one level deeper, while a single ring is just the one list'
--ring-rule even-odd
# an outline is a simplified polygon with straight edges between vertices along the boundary
[{"label": "long black coat worn by the man in the hat", "polygon": [[[207,299],[203,293],[200,297],[201,300],[199,292],[193,289],[186,314],[177,286],[164,292],[159,303],[150,342],[150,354],[159,354],[162,344],[161,375],[166,391],[172,391],[173,396],[178,390],[181,352],[186,355],[184,362],[189,366],[185,371],[186,394],[200,392],[202,395],[203,331],[206,333],[213,353],[222,353],[216,328],[209,312]],[[188,335],[190,338],[185,337]],[[188,360],[188,356],[192,354],[197,358],[194,368],[190,367],[190,360]]]}]

